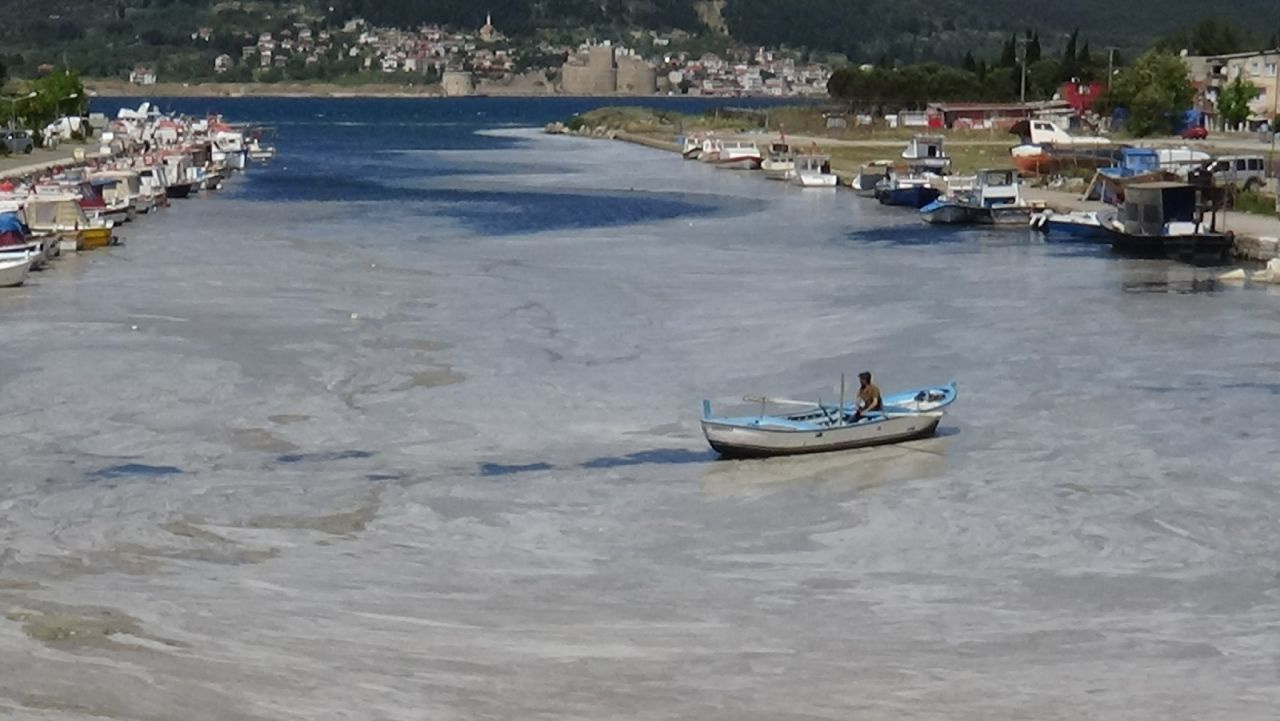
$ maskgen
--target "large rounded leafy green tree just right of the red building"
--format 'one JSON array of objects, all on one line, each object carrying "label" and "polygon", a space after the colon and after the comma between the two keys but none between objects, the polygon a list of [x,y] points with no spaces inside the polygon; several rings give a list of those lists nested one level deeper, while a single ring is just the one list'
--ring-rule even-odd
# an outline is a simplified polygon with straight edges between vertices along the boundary
[{"label": "large rounded leafy green tree just right of the red building", "polygon": [[1151,50],[1116,74],[1108,95],[1108,104],[1129,110],[1129,131],[1142,137],[1171,133],[1196,91],[1181,58]]}]

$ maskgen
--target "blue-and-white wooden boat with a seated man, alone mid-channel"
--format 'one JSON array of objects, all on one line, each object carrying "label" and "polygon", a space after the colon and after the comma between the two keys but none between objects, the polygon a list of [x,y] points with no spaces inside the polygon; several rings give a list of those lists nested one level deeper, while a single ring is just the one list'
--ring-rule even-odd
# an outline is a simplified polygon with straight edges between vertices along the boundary
[{"label": "blue-and-white wooden boat with a seated man, alone mid-channel", "polygon": [[[841,383],[844,387],[844,383]],[[844,394],[844,393],[841,393]],[[823,405],[781,398],[746,397],[760,403],[753,416],[712,415],[710,401],[703,401],[703,434],[710,447],[724,457],[767,457],[844,451],[886,443],[900,443],[932,435],[942,420],[942,409],[956,400],[955,383],[916,388],[884,396],[883,411],[854,420],[855,407],[844,398]],[[805,406],[788,415],[768,415],[768,405]]]}]

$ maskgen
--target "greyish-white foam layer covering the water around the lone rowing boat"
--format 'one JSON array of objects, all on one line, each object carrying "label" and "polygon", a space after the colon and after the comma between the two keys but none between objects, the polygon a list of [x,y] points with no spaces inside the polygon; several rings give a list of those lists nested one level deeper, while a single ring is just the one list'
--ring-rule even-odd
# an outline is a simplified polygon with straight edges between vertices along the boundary
[{"label": "greyish-white foam layer covering the water around the lone rowing boat", "polygon": [[[1211,271],[933,242],[849,193],[507,134],[436,160],[516,172],[431,183],[577,195],[579,222],[278,202],[259,173],[0,295],[0,709],[1280,706],[1277,297],[1132,292]],[[632,190],[712,211],[591,205]],[[703,397],[833,400],[861,369],[961,400],[896,447],[714,461],[700,438]]]}]

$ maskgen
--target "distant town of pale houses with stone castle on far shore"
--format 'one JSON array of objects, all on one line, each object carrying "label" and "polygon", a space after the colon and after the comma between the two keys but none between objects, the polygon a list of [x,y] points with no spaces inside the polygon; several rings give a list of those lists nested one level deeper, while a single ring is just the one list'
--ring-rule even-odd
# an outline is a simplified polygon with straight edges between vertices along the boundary
[{"label": "distant town of pale houses with stone castle on far shore", "polygon": [[[209,42],[214,28],[200,27],[193,42]],[[723,53],[682,49],[684,31],[635,32],[627,42],[588,40],[576,45],[513,41],[494,18],[474,31],[424,26],[417,31],[374,27],[356,18],[343,27],[317,29],[296,22],[278,32],[244,33],[239,53],[212,60],[214,79],[251,82],[311,79],[337,74],[370,82],[442,83],[447,95],[500,92],[503,88],[564,95],[826,96],[832,68],[796,54],[765,47]],[[138,65],[134,85],[164,78]]]}]

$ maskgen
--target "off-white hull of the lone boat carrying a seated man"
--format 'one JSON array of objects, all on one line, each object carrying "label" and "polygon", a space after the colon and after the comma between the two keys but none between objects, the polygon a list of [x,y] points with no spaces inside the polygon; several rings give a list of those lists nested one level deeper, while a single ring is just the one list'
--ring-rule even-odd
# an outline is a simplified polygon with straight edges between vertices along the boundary
[{"label": "off-white hull of the lone boat carrying a seated man", "polygon": [[941,412],[911,414],[867,420],[840,428],[796,432],[742,428],[704,420],[703,433],[712,450],[723,457],[762,458],[901,443],[933,435],[941,421]]}]

